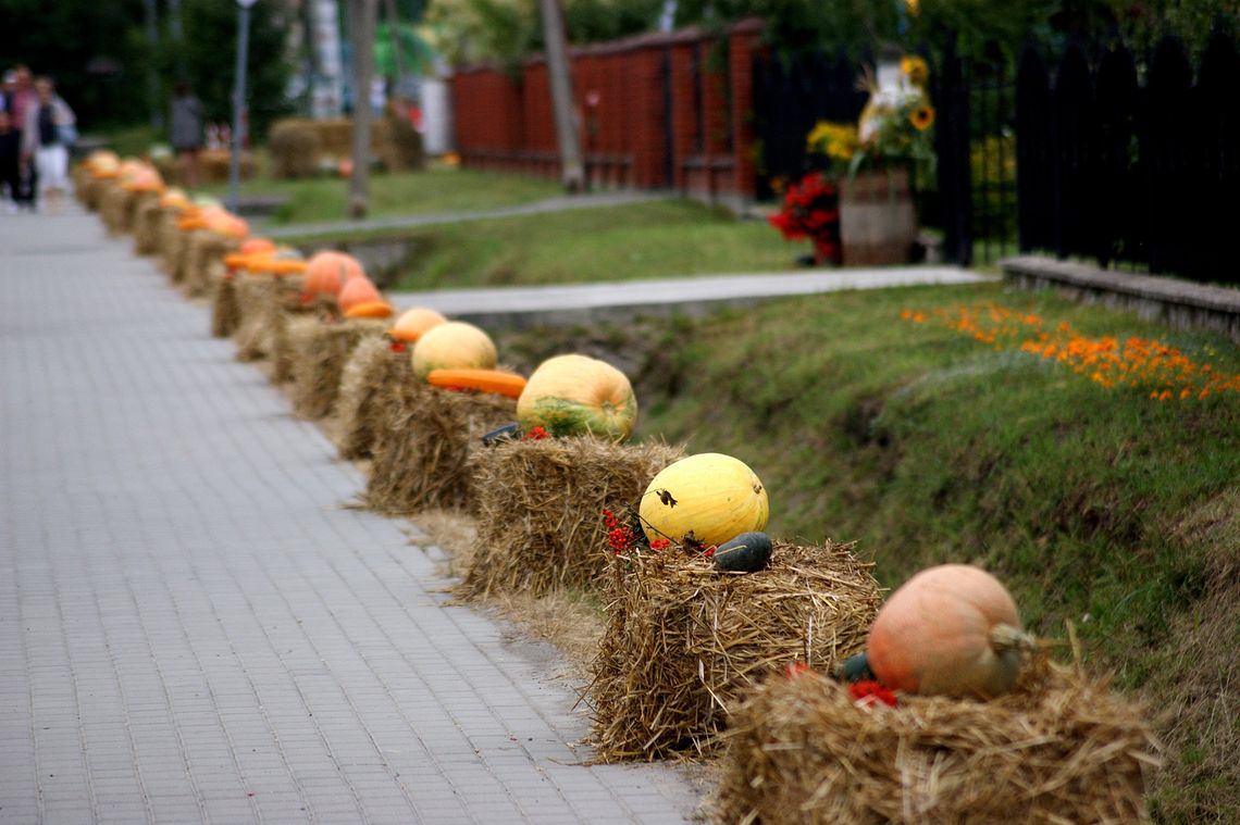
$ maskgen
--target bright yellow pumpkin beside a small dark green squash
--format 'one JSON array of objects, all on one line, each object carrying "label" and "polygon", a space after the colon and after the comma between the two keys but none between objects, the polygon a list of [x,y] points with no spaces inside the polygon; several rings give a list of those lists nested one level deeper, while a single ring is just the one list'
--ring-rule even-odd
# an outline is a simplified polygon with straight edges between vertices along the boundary
[{"label": "bright yellow pumpkin beside a small dark green squash", "polygon": [[765,530],[770,503],[766,488],[745,462],[703,452],[655,476],[637,513],[651,541],[718,545],[742,533]]}]

